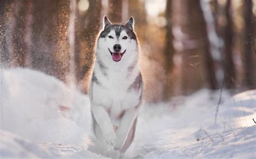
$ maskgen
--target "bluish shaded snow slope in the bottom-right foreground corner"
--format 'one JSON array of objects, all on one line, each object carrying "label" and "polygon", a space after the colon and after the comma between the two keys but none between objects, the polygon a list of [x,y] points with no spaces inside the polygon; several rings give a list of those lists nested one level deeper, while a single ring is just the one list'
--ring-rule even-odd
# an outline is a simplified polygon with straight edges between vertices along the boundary
[{"label": "bluish shaded snow slope in the bottom-right foreground corner", "polygon": [[[212,141],[184,138],[158,147],[145,158],[255,158],[256,125],[221,134],[211,134]],[[181,142],[181,143],[180,143]]]}]

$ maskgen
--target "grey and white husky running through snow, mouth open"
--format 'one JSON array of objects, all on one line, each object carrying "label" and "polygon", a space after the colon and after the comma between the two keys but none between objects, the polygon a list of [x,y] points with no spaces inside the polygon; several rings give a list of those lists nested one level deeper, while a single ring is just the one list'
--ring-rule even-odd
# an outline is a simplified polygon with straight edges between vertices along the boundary
[{"label": "grey and white husky running through snow, mouth open", "polygon": [[93,131],[100,154],[107,155],[104,149],[123,154],[134,139],[142,105],[139,44],[133,17],[124,25],[104,16],[103,24],[90,83]]}]

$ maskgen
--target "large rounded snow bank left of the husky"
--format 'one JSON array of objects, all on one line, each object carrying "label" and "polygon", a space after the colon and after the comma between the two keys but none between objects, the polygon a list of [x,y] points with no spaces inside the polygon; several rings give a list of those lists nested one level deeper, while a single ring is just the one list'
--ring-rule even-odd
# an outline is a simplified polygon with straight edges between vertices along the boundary
[{"label": "large rounded snow bank left of the husky", "polygon": [[3,70],[0,76],[1,129],[33,142],[86,144],[91,128],[87,96],[31,69]]}]

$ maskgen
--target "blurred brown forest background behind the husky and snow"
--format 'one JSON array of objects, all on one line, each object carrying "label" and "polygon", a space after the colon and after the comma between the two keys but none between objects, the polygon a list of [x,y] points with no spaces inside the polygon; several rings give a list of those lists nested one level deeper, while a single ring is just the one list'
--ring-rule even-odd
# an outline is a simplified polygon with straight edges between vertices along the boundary
[{"label": "blurred brown forest background behind the husky and snow", "polygon": [[147,102],[256,88],[255,0],[2,0],[1,67],[43,71],[87,93],[104,15],[135,19]]}]

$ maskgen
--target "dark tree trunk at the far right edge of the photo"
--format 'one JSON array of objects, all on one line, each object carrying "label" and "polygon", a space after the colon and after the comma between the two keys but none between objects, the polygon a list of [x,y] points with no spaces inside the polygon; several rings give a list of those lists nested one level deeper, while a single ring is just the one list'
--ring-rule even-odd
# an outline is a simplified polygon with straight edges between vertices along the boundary
[{"label": "dark tree trunk at the far right edge of the photo", "polygon": [[[253,3],[252,0],[247,0],[244,3],[244,18],[245,18],[245,30],[244,39],[246,41],[242,48],[244,56],[244,83],[248,89],[256,88],[256,54],[253,50],[253,40],[255,33],[253,33],[253,23],[255,19],[252,15]],[[255,27],[255,24],[254,24]]]}]

